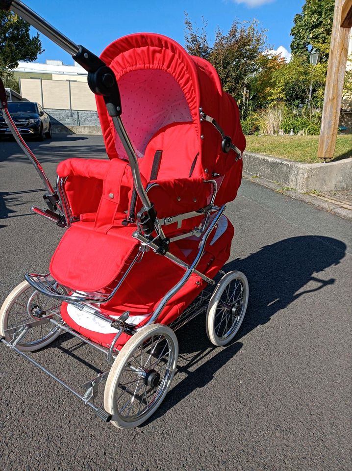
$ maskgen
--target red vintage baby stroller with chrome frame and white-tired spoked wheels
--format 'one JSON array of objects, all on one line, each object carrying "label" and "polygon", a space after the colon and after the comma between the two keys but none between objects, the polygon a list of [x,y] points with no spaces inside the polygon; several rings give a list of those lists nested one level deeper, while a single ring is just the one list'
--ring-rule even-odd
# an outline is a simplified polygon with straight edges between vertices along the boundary
[{"label": "red vintage baby stroller with chrome frame and white-tired spoked wheels", "polygon": [[[151,416],[170,388],[177,328],[206,312],[210,341],[225,345],[244,318],[245,275],[222,272],[214,281],[234,235],[224,211],[241,182],[245,138],[238,108],[214,68],[167,37],[126,36],[98,58],[21,1],[0,6],[88,71],[109,157],[60,162],[54,190],[14,126],[2,87],[6,124],[48,189],[49,209],[32,209],[66,231],[50,271],[26,274],[4,301],[0,336],[101,419],[131,428]],[[107,355],[108,366],[82,393],[28,354],[62,332]]]}]

